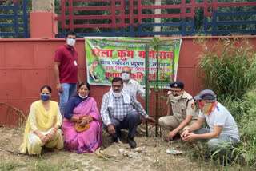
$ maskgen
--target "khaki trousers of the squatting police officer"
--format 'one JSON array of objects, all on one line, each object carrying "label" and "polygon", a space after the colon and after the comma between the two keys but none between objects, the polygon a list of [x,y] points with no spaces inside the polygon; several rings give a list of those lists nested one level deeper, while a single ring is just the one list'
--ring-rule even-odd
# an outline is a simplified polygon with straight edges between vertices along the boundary
[{"label": "khaki trousers of the squatting police officer", "polygon": [[[190,123],[186,125],[182,130],[180,130],[179,133],[182,134],[186,128],[188,128],[190,125],[194,123],[194,121],[196,120],[190,121]],[[160,126],[162,126],[162,128],[172,131],[176,129],[178,125],[182,123],[182,121],[178,121],[178,119],[174,116],[166,116],[160,117],[158,123]]]}]

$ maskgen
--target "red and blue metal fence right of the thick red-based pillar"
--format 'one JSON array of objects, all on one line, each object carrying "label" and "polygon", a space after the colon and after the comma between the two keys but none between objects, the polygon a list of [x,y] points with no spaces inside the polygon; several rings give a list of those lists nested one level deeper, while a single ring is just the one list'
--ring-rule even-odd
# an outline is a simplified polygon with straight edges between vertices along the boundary
[{"label": "red and blue metal fence right of the thick red-based pillar", "polygon": [[[256,34],[256,2],[219,0],[62,0],[63,36]],[[159,18],[161,22],[155,22]],[[155,27],[160,30],[154,30]]]}]

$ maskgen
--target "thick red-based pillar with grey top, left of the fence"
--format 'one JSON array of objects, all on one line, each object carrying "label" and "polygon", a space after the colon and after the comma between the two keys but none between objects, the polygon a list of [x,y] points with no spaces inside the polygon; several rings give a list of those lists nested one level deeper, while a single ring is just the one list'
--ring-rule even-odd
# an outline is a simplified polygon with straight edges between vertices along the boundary
[{"label": "thick red-based pillar with grey top, left of the fence", "polygon": [[58,34],[55,17],[54,0],[32,0],[30,38],[55,38],[55,34]]}]

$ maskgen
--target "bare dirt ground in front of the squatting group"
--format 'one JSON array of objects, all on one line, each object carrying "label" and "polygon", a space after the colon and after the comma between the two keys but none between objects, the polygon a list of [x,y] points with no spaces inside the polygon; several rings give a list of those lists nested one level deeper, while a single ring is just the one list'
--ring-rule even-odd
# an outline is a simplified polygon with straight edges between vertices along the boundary
[{"label": "bare dirt ground in front of the squatting group", "polygon": [[[144,129],[142,126],[141,129]],[[71,153],[66,149],[58,152],[42,151],[41,156],[29,156],[16,153],[22,144],[22,129],[0,128],[0,170],[245,170],[240,165],[223,167],[212,161],[191,161],[182,150],[184,143],[163,141],[154,137],[154,129],[145,137],[144,133],[137,133],[135,141],[140,147],[135,152],[125,143],[125,132],[121,141],[123,144],[111,143],[107,133],[103,134],[102,153],[107,159],[97,157],[95,153]],[[166,153],[166,149],[178,149],[183,153],[173,155]],[[7,166],[16,165],[14,169]]]}]

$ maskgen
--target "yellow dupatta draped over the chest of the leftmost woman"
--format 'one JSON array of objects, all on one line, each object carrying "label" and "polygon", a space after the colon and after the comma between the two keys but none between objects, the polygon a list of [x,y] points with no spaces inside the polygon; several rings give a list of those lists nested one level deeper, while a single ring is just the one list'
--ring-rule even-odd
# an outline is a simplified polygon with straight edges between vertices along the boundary
[{"label": "yellow dupatta draped over the chest of the leftmost woman", "polygon": [[30,106],[30,114],[28,120],[26,121],[26,127],[24,130],[23,143],[20,146],[19,150],[22,153],[26,153],[27,150],[27,141],[30,133],[30,115],[35,114],[36,125],[39,131],[46,132],[51,129],[57,122],[57,113],[58,113],[58,103],[55,101],[50,101],[50,109],[46,109],[42,105],[42,101],[35,101]]}]

